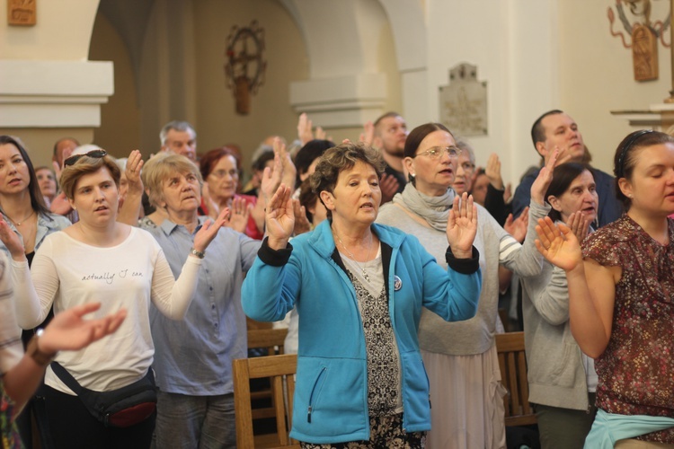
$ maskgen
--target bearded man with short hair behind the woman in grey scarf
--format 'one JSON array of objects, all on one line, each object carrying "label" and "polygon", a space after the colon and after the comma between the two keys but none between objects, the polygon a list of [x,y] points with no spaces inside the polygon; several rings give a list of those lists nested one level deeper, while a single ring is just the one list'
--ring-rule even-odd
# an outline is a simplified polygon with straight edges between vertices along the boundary
[{"label": "bearded man with short hair behind the woman in grey scarf", "polygon": [[[395,193],[404,190],[407,180],[404,174],[404,149],[407,139],[407,123],[397,112],[386,112],[374,124],[375,132],[372,145],[381,151],[386,161],[386,177],[382,178],[382,204],[390,201]],[[386,178],[393,177],[397,181],[397,188],[386,191]],[[394,183],[395,187],[395,183]]]}]

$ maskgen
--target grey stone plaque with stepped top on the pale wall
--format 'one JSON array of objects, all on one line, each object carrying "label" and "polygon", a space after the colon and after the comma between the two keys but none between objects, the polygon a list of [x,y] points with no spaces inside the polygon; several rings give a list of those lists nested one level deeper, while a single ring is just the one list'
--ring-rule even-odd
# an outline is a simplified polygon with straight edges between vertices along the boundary
[{"label": "grey stone plaque with stepped top on the pale wall", "polygon": [[449,85],[439,86],[440,122],[455,136],[487,135],[487,82],[477,81],[477,66],[449,70]]}]

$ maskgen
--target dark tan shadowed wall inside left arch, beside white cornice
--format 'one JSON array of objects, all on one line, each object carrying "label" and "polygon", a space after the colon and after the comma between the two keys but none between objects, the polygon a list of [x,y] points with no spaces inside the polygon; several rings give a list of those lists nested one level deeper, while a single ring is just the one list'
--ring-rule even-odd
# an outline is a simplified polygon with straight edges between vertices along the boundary
[{"label": "dark tan shadowed wall inside left arch, beside white cornice", "polygon": [[140,112],[129,51],[119,33],[101,14],[96,15],[89,52],[92,61],[113,61],[115,93],[101,107],[101,128],[93,131],[93,143],[115,157],[126,157],[140,148]]}]

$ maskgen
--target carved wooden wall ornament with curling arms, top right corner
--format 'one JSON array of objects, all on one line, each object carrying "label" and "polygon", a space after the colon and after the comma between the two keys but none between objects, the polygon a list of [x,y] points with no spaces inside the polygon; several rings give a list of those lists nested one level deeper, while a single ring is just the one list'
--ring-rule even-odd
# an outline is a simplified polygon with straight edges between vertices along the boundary
[{"label": "carved wooden wall ornament with curling arms, top right corner", "polygon": [[[629,43],[625,40],[623,31],[614,30],[616,13],[625,33],[630,36]],[[652,21],[652,0],[616,0],[616,13],[613,12],[613,8],[608,8],[611,35],[619,37],[625,48],[632,48],[634,80],[657,80],[658,40],[661,41],[663,47],[670,47],[671,43],[665,42],[664,35],[670,27],[671,13],[667,14],[664,21]]]}]

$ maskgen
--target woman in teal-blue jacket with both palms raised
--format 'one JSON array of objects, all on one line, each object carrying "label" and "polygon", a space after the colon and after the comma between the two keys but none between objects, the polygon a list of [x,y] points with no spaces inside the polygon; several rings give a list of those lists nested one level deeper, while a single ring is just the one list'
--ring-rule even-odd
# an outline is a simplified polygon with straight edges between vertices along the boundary
[{"label": "woman in teal-blue jacket with both palms raised", "polygon": [[472,198],[455,200],[444,270],[415,237],[374,224],[382,172],[381,155],[368,147],[328,150],[311,181],[329,218],[292,245],[291,190],[281,185],[266,208],[269,237],[244,281],[244,312],[254,320],[277,321],[297,307],[290,436],[303,447],[423,447],[430,401],[417,341],[421,307],[448,321],[477,310]]}]

